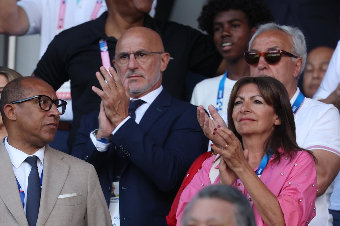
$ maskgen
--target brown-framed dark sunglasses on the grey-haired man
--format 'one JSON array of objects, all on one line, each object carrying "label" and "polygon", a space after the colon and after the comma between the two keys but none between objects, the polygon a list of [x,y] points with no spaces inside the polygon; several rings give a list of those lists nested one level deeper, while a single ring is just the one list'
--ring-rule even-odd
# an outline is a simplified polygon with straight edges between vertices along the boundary
[{"label": "brown-framed dark sunglasses on the grey-haired man", "polygon": [[244,52],[244,59],[248,65],[255,65],[258,64],[260,57],[263,56],[268,64],[276,64],[280,61],[282,53],[290,57],[298,58],[284,50],[270,50],[262,53],[256,51]]}]

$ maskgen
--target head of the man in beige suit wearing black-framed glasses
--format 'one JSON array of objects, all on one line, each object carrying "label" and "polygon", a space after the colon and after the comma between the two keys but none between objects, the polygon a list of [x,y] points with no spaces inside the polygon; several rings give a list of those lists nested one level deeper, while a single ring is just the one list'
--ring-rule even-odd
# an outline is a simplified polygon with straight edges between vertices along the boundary
[{"label": "head of the man in beige suit wearing black-framed glasses", "polygon": [[53,88],[41,79],[20,77],[9,82],[0,101],[8,143],[20,140],[37,150],[45,146],[53,141],[65,108],[66,102],[58,100]]}]

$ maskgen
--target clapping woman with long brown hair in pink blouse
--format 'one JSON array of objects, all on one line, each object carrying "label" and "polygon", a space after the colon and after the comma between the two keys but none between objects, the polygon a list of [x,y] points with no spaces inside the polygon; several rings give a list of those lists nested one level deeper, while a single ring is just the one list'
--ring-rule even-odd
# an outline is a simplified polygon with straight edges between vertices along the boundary
[{"label": "clapping woman with long brown hair in pink blouse", "polygon": [[182,192],[177,225],[191,198],[219,183],[248,199],[258,226],[307,225],[315,216],[316,165],[312,154],[296,144],[293,112],[282,83],[271,77],[240,79],[228,104],[228,128],[213,106],[209,111],[214,121],[202,106],[198,120],[218,155],[203,162]]}]

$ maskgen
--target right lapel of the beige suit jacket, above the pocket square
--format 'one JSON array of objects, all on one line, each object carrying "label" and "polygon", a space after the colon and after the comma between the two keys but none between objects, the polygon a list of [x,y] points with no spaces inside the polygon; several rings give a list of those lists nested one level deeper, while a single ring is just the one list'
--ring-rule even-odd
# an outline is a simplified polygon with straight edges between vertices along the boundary
[{"label": "right lapel of the beige suit jacket, above the pocket square", "polygon": [[46,145],[37,226],[45,224],[64,186],[70,166],[62,158],[63,155]]}]

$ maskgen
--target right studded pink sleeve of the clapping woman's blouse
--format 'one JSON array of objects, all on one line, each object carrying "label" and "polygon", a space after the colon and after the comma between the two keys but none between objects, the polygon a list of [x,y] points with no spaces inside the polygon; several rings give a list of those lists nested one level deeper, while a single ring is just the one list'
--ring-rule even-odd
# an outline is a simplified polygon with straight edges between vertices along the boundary
[{"label": "right studded pink sleeve of the clapping woman's blouse", "polygon": [[278,195],[278,202],[286,225],[306,225],[315,216],[316,164],[307,152],[301,152],[289,164],[294,166]]}]

